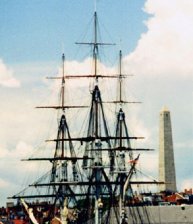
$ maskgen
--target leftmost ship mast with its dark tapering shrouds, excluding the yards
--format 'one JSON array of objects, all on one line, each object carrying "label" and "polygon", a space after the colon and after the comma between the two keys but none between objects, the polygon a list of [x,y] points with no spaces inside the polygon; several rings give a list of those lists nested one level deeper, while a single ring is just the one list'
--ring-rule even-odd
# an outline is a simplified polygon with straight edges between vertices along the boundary
[{"label": "leftmost ship mast with its dark tapering shrouds, excluding the yards", "polygon": [[[69,177],[72,176],[72,181],[80,181],[80,172],[77,164],[76,153],[71,140],[71,135],[65,115],[65,71],[64,71],[65,56],[62,55],[62,86],[60,92],[61,101],[61,117],[58,125],[58,133],[55,147],[55,154],[52,164],[52,171],[50,177],[50,183],[56,182],[68,182]],[[69,141],[63,141],[63,139],[68,139]],[[59,159],[59,160],[57,160]],[[69,169],[69,162],[71,163],[71,171]],[[64,206],[64,201],[71,201],[76,204],[75,192],[69,184],[64,185],[52,185],[53,194],[56,195],[54,204],[59,202],[61,208]],[[69,196],[71,195],[71,197]],[[67,200],[68,198],[68,200]]]}]

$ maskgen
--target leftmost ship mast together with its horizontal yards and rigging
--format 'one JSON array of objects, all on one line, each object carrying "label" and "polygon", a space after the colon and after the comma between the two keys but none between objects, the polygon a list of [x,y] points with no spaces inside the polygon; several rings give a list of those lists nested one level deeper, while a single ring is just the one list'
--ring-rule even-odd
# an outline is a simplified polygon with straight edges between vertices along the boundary
[{"label": "leftmost ship mast together with its horizontal yards and rigging", "polygon": [[[57,215],[57,211],[65,210],[71,206],[77,207],[77,194],[83,194],[84,186],[78,186],[77,183],[82,181],[82,173],[78,164],[78,160],[82,157],[77,157],[73,146],[72,138],[70,135],[69,126],[66,119],[66,109],[79,108],[82,106],[66,105],[65,102],[65,71],[64,71],[65,56],[62,55],[62,77],[51,77],[51,79],[61,79],[60,100],[59,105],[54,106],[39,106],[37,108],[52,108],[58,110],[60,113],[60,120],[58,123],[58,131],[56,139],[47,140],[55,142],[55,152],[53,157],[44,158],[29,158],[24,161],[47,161],[52,163],[50,172],[47,175],[39,178],[35,183],[29,187],[40,189],[40,194],[25,195],[20,192],[14,195],[14,199],[43,199],[48,198],[50,203],[49,219]],[[46,182],[46,180],[48,180]],[[48,188],[47,191],[41,191],[44,187]],[[78,188],[78,189],[77,189]],[[77,193],[78,192],[78,193]],[[24,192],[25,193],[25,192]],[[85,194],[85,193],[84,193]]]}]

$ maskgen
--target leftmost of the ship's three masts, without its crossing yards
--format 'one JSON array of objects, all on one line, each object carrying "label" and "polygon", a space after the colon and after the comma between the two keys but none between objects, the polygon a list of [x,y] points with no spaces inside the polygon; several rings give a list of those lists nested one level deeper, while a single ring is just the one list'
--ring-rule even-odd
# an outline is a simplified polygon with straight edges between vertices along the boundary
[{"label": "leftmost of the ship's three masts, without its crossing yards", "polygon": [[[65,75],[64,75],[64,61],[65,61],[65,56],[64,54],[62,55],[62,87],[61,87],[61,107],[62,107],[62,115],[60,118],[59,122],[59,127],[58,127],[58,134],[57,134],[57,139],[61,141],[56,141],[56,150],[55,150],[55,155],[54,158],[59,158],[60,161],[57,159],[53,161],[53,167],[52,167],[52,175],[51,175],[51,180],[50,182],[57,182],[57,181],[69,181],[69,168],[68,168],[68,160],[65,158],[68,156],[68,153],[74,158],[75,157],[75,151],[74,147],[72,144],[70,132],[69,132],[69,127],[66,121],[66,116],[65,116]],[[66,144],[62,139],[68,138],[69,142]],[[72,174],[73,174],[73,180],[78,181],[77,177],[77,164],[71,161],[72,165]],[[60,165],[58,165],[60,164]],[[58,180],[59,177],[59,180]],[[55,203],[57,200],[60,202],[60,207],[63,207],[64,201],[65,201],[65,194],[72,193],[72,189],[69,185],[60,185],[60,186],[53,186],[54,193],[57,195],[55,198]],[[74,200],[75,200],[75,196]]]}]

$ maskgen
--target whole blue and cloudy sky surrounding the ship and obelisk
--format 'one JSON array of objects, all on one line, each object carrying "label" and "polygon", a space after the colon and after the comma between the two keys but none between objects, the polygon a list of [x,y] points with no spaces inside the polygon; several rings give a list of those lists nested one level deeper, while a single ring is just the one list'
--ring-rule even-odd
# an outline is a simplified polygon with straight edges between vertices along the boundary
[{"label": "whole blue and cloudy sky surrounding the ship and obelisk", "polygon": [[[37,170],[20,159],[37,152],[48,139],[49,116],[34,110],[49,105],[55,93],[55,85],[45,77],[58,74],[63,52],[68,72],[90,72],[87,48],[80,50],[74,43],[91,40],[85,33],[93,29],[93,12],[91,0],[0,1],[0,205],[26,186],[26,176]],[[127,96],[143,102],[130,106],[127,113],[129,131],[146,137],[145,148],[156,149],[141,157],[141,164],[157,175],[159,112],[166,105],[171,111],[178,189],[191,188],[192,0],[98,0],[97,12],[102,41],[117,44],[107,48],[113,67],[100,66],[117,71],[115,58],[121,48],[124,72],[135,75],[126,83]],[[71,86],[72,93],[79,87],[85,88],[84,83]]]}]

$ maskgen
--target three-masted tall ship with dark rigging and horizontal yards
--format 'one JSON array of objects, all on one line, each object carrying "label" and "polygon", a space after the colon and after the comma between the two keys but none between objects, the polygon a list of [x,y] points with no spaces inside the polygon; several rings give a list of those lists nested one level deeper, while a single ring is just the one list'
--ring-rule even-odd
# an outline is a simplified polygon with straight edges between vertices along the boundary
[{"label": "three-masted tall ship with dark rigging and horizontal yards", "polygon": [[[56,79],[61,83],[59,102],[38,107],[57,110],[59,116],[55,137],[46,140],[52,145],[50,148],[54,146],[50,150],[53,153],[47,153],[46,157],[28,158],[26,161],[44,162],[50,169],[11,198],[18,200],[29,218],[28,223],[34,224],[172,223],[169,218],[164,218],[168,207],[161,208],[163,214],[160,216],[159,206],[148,206],[150,201],[143,200],[148,199],[148,195],[142,199],[134,191],[135,186],[163,183],[155,179],[137,179],[140,154],[152,149],[132,147],[133,141],[141,141],[144,137],[129,134],[129,118],[126,117],[124,105],[139,102],[129,102],[123,94],[123,84],[128,75],[122,73],[121,51],[117,53],[117,74],[99,72],[100,48],[114,44],[99,40],[96,11],[93,24],[93,41],[77,43],[92,48],[93,71],[90,74],[67,74],[63,54],[62,75],[50,77],[52,81]],[[72,102],[67,103],[66,87],[75,79],[90,83],[90,89],[84,89],[90,95],[88,105],[78,100],[74,105]],[[112,92],[117,89],[114,99],[103,99],[101,86],[104,80],[114,83],[110,89]],[[70,94],[80,99],[76,92]],[[115,113],[107,113],[105,108],[109,105],[115,108]],[[83,121],[76,119],[79,111],[85,111],[86,118],[82,118]],[[74,117],[69,114],[74,114]],[[71,132],[74,121],[76,131]],[[159,195],[156,200],[158,203]],[[178,214],[180,212],[183,212],[182,209],[179,209]]]}]

